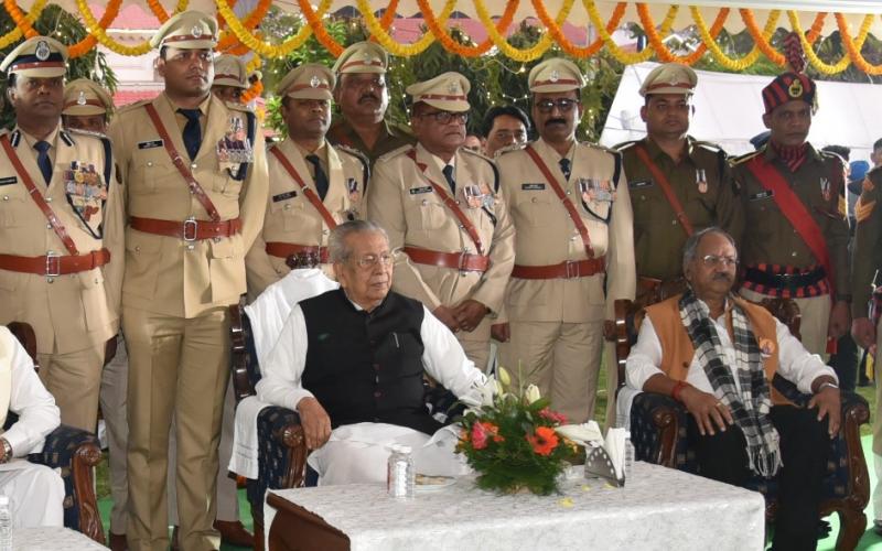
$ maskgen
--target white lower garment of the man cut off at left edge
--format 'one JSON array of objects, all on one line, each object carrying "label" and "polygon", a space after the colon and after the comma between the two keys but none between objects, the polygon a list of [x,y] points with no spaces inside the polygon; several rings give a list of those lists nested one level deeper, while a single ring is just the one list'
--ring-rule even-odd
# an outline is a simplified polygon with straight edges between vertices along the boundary
[{"label": "white lower garment of the man cut off at left edge", "polygon": [[0,465],[0,494],[9,497],[13,528],[64,526],[64,482],[54,469],[25,460]]}]

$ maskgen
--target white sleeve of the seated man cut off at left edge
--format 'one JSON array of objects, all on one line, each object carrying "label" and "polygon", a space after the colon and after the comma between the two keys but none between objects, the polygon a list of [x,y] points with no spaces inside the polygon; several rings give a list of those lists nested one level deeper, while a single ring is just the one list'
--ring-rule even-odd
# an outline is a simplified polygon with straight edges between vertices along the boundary
[{"label": "white sleeve of the seated man cut off at left edge", "polygon": [[10,341],[13,348],[9,411],[18,414],[19,420],[3,433],[3,437],[12,446],[15,457],[24,457],[36,449],[42,449],[46,435],[62,421],[55,399],[36,376],[30,356],[18,341]]}]

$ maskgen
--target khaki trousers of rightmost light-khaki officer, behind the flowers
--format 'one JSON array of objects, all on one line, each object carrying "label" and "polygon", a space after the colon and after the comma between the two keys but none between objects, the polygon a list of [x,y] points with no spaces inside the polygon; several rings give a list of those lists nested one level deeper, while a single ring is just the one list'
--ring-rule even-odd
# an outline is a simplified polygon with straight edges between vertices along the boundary
[{"label": "khaki trousers of rightmost light-khaki officer, behind the flowers", "polygon": [[510,322],[512,337],[499,345],[499,365],[515,388],[534,383],[569,423],[594,415],[603,322]]}]

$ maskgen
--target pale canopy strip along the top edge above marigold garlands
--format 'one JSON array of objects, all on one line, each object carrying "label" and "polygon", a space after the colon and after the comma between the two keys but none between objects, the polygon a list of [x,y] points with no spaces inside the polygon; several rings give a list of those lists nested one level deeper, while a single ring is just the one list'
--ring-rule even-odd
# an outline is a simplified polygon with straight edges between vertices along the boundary
[{"label": "pale canopy strip along the top edge above marigold garlands", "polygon": [[[541,0],[546,10],[551,17],[555,17],[564,0]],[[852,34],[858,32],[863,14],[875,13],[882,14],[882,1],[880,0],[688,0],[682,2],[671,2],[670,0],[643,0],[645,3],[650,4],[650,11],[656,24],[660,24],[668,8],[671,4],[679,4],[679,11],[674,23],[675,30],[680,30],[693,23],[692,17],[689,13],[689,6],[700,7],[707,24],[710,25],[712,18],[719,12],[720,8],[730,8],[730,14],[727,19],[725,26],[731,32],[741,31],[744,28],[744,22],[738,13],[739,8],[749,8],[754,11],[755,19],[759,25],[763,25],[768,17],[770,10],[797,10],[799,11],[800,24],[804,29],[808,29],[818,12],[840,12],[847,14],[850,32]],[[30,8],[34,0],[19,0],[19,6],[22,8]],[[50,0],[50,3],[56,3],[65,8],[72,13],[77,12],[75,0]],[[95,3],[90,0],[89,3]],[[254,4],[256,0],[240,0],[236,6],[236,12],[240,12],[239,4]],[[319,4],[319,0],[310,0],[313,6]],[[440,13],[444,7],[444,0],[429,0],[432,10]],[[492,15],[501,15],[505,10],[506,0],[483,0],[487,11]],[[604,21],[606,21],[612,13],[613,9],[619,2],[611,0],[596,0],[598,11]],[[625,12],[624,21],[638,21],[635,2],[628,1],[628,7]],[[139,4],[148,10],[147,0],[123,0],[123,6]],[[166,11],[174,9],[175,0],[162,0],[162,6]],[[295,0],[273,0],[273,4],[279,8],[290,11],[299,12],[300,8]],[[389,0],[369,0],[370,7],[376,10],[386,9]],[[201,9],[208,12],[215,12],[216,3],[214,0],[190,0],[189,8]],[[345,7],[356,7],[354,0],[334,0],[332,2],[331,11],[337,11]],[[477,10],[475,9],[475,0],[459,0],[456,3],[456,11],[464,13],[470,18],[477,18]],[[417,0],[400,0],[398,3],[398,13],[402,17],[412,17],[420,12]],[[525,18],[535,18],[536,9],[531,0],[519,0],[518,9],[516,12],[515,21],[521,21]],[[576,3],[567,19],[568,23],[573,25],[588,25],[590,19],[581,0],[576,0]],[[789,28],[787,18],[782,15],[778,21],[779,26]],[[828,17],[825,21],[824,33],[828,34],[836,30],[836,20],[832,15]],[[876,18],[872,26],[872,32],[876,35],[882,35],[882,18]]]}]

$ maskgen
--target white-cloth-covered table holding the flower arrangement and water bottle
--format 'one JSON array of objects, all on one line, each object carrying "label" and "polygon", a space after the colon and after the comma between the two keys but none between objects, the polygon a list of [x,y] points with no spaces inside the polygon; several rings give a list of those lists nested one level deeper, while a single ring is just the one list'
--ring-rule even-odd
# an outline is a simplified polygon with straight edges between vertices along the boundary
[{"label": "white-cloth-covered table holding the flower arrangement and water bottle", "polygon": [[463,477],[388,497],[383,485],[270,490],[269,549],[283,550],[762,550],[763,496],[637,462],[624,488],[571,478],[561,494],[501,496]]}]

